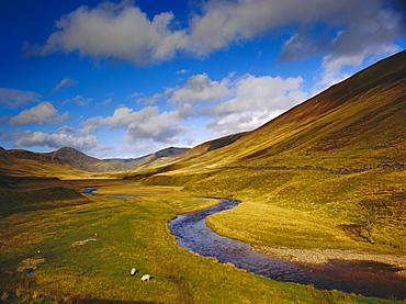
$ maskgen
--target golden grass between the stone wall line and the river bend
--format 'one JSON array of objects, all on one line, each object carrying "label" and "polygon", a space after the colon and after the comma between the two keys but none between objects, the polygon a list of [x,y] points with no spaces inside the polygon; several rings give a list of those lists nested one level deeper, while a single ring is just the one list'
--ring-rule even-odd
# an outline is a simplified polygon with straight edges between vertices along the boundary
[{"label": "golden grass between the stone wall line and the river bend", "polygon": [[[405,171],[393,169],[338,174],[237,168],[169,172],[145,183],[241,200],[244,204],[211,215],[207,223],[222,235],[250,244],[405,255]],[[380,205],[374,245],[366,239],[365,202]]]}]

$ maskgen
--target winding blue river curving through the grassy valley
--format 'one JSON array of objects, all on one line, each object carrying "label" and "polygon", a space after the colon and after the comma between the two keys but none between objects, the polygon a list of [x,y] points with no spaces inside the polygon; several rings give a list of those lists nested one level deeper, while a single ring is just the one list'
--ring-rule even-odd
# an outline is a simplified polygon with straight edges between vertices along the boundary
[{"label": "winding blue river curving through the grassy valley", "polygon": [[[87,189],[81,193],[93,193]],[[136,196],[113,195],[108,196]],[[215,206],[183,215],[169,223],[178,245],[204,257],[215,257],[222,263],[233,263],[239,269],[277,281],[313,284],[318,290],[338,290],[364,296],[406,300],[406,279],[397,275],[401,270],[390,264],[372,261],[330,260],[326,264],[305,264],[272,258],[252,250],[243,241],[224,237],[206,226],[208,215],[237,206],[240,202],[217,199]]]}]

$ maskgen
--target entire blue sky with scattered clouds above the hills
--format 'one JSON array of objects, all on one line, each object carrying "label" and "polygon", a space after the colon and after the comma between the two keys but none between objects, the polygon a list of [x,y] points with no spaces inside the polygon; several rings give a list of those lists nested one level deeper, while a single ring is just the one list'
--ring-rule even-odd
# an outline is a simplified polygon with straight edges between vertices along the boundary
[{"label": "entire blue sky with scattered clouds above the hills", "polygon": [[0,0],[0,146],[135,158],[252,131],[406,48],[403,0]]}]

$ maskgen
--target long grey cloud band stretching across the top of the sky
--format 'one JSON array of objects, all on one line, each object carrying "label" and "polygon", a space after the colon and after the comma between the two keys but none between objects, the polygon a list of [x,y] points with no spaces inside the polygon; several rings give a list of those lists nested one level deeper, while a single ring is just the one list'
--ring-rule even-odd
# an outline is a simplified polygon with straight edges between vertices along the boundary
[{"label": "long grey cloud band stretching across the top of the sky", "polygon": [[[183,29],[174,23],[171,12],[149,20],[132,1],[83,5],[56,22],[46,43],[31,45],[29,53],[79,52],[147,64],[179,53],[207,56],[289,26],[297,31],[285,42],[281,60],[292,60],[323,52],[335,57],[354,56],[365,47],[392,44],[406,31],[402,12],[385,0],[208,0]],[[316,34],[311,34],[315,29]]]}]

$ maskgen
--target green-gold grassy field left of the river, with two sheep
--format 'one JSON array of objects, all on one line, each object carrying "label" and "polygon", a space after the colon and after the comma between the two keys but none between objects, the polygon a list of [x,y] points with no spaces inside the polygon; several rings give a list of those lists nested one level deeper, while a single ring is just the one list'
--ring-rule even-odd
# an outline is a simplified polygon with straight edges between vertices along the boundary
[{"label": "green-gold grassy field left of the river, with two sheep", "polygon": [[[179,194],[180,190],[106,180],[81,182],[84,187],[99,185],[102,193],[117,191],[166,196]],[[58,181],[58,187],[61,183]],[[67,181],[66,185],[67,189],[78,188],[74,181]],[[0,301],[390,303],[275,282],[180,248],[168,229],[168,222],[177,214],[216,203],[182,195],[184,193],[178,198],[88,196],[88,202],[82,204],[20,210],[3,216],[0,223]],[[131,277],[133,267],[138,272]],[[16,271],[19,268],[23,271]],[[26,275],[31,268],[36,268],[34,274]],[[150,282],[139,281],[145,273],[154,277]]]}]

